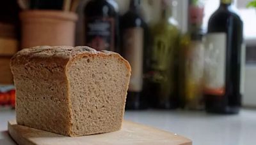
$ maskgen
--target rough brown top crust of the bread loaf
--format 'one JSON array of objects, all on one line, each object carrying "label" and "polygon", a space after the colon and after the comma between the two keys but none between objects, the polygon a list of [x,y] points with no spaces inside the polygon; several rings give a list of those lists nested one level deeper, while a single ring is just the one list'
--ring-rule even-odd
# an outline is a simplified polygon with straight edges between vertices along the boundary
[{"label": "rough brown top crust of the bread loaf", "polygon": [[131,66],[127,60],[125,60],[121,55],[115,52],[109,52],[106,50],[96,51],[88,46],[35,46],[33,48],[24,48],[20,52],[13,55],[11,59],[10,66],[24,64],[28,62],[29,59],[38,58],[47,59],[54,58],[54,60],[61,60],[63,66],[67,67],[74,59],[79,57],[108,57],[113,56],[123,62],[127,69],[131,72]]}]

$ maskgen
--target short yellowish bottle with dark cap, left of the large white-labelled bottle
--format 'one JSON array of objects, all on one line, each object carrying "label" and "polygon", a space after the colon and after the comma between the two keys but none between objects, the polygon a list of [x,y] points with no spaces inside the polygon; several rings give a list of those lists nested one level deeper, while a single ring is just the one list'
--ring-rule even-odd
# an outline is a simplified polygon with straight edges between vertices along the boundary
[{"label": "short yellowish bottle with dark cap, left of the large white-labelled bottle", "polygon": [[[202,92],[204,77],[204,43],[201,32],[188,34],[188,45],[182,50],[184,84],[180,87],[184,97],[185,109],[204,109],[204,97]],[[180,66],[181,67],[181,66]]]}]

